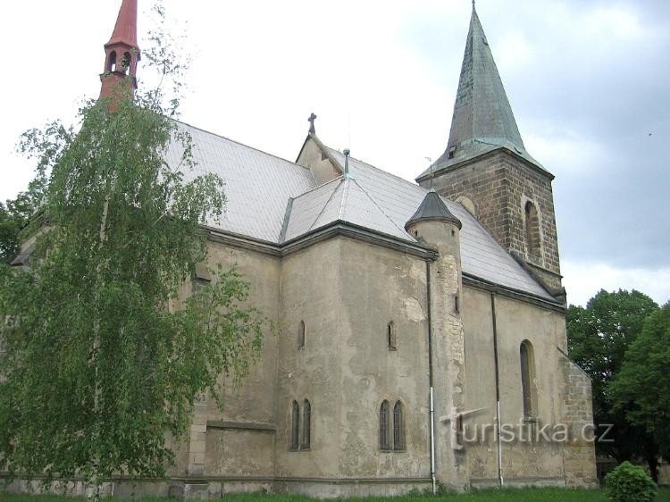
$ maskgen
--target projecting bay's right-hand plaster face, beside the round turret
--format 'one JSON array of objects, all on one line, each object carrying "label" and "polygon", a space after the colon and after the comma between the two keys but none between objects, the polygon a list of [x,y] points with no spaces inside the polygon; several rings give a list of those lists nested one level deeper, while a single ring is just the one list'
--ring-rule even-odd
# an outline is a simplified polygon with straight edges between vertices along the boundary
[{"label": "projecting bay's right-hand plaster face, beside the round turret", "polygon": [[[430,477],[425,263],[341,239],[339,475]],[[389,350],[394,323],[398,349]],[[379,409],[403,404],[405,450],[382,452]]]}]

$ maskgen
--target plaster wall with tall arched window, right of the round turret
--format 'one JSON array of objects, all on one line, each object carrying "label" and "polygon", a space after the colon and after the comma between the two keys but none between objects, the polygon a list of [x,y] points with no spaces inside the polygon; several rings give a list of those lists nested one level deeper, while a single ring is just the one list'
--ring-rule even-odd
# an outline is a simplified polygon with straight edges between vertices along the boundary
[{"label": "plaster wall with tall arched window, right of the round turret", "polygon": [[[509,484],[564,484],[563,444],[533,440],[531,431],[545,424],[557,431],[564,414],[560,396],[565,380],[557,346],[565,346],[565,318],[548,309],[496,295],[498,329],[498,367],[501,423],[514,427],[519,437],[523,424],[523,438],[502,445],[502,474]],[[467,435],[473,437],[477,426],[482,444],[468,446],[470,474],[474,485],[495,484],[498,477],[498,444],[493,425],[496,415],[495,364],[493,352],[493,324],[490,293],[465,287],[465,353],[467,388],[477,389],[467,394],[467,408],[484,408],[465,421]],[[523,340],[532,343],[535,379],[532,386],[537,397],[537,423],[523,420],[521,362],[519,347]],[[482,427],[490,424],[485,435]],[[551,437],[551,434],[549,434]]]}]

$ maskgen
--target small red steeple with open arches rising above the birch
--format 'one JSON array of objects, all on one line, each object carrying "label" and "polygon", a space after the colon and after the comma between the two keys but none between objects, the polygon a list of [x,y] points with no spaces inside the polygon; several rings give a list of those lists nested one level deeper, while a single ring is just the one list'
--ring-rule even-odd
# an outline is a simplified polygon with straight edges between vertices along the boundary
[{"label": "small red steeple with open arches rising above the birch", "polygon": [[100,97],[112,96],[114,86],[126,78],[130,78],[133,89],[137,88],[138,61],[138,0],[122,0],[112,38],[105,44]]}]

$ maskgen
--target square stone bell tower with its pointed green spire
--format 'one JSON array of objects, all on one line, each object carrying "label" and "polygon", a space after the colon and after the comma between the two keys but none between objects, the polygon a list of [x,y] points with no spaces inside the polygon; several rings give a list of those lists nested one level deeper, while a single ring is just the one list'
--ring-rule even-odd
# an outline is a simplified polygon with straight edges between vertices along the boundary
[{"label": "square stone bell tower with its pointed green spire", "polygon": [[447,148],[417,182],[465,205],[555,297],[563,298],[553,179],[523,145],[473,4]]}]

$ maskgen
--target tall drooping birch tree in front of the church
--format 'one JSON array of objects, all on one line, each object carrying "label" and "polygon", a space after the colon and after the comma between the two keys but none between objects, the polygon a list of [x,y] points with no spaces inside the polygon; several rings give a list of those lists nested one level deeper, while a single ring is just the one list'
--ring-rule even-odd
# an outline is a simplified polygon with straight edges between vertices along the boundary
[{"label": "tall drooping birch tree in front of the church", "polygon": [[220,402],[260,351],[264,316],[238,272],[183,299],[225,199],[222,180],[191,172],[178,99],[117,90],[82,107],[76,133],[51,124],[21,144],[46,226],[29,268],[0,266],[0,471],[161,477],[194,399]]}]

